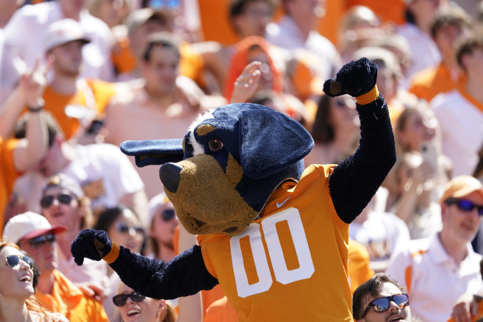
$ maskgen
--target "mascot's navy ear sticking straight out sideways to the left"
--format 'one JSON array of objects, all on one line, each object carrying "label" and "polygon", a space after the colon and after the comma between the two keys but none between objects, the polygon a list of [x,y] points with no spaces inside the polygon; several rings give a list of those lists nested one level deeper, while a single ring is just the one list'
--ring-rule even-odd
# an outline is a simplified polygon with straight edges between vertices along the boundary
[{"label": "mascot's navy ear sticking straight out sideways to the left", "polygon": [[139,168],[163,165],[183,159],[183,139],[125,141],[121,143],[124,154],[134,156]]}]

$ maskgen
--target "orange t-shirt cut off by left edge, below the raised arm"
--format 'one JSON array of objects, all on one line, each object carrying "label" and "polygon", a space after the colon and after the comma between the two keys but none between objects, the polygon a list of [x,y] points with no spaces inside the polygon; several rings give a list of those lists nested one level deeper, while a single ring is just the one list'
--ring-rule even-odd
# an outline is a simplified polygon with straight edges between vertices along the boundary
[{"label": "orange t-shirt cut off by left edge, below the raised arm", "polygon": [[15,180],[22,174],[15,169],[14,150],[18,140],[0,137],[0,236],[4,230],[4,213],[14,189]]}]

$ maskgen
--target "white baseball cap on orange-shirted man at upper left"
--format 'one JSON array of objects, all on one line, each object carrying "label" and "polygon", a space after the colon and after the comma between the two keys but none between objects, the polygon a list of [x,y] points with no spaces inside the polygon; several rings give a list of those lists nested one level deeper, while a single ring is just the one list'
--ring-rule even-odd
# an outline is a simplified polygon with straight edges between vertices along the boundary
[{"label": "white baseball cap on orange-shirted man at upper left", "polygon": [[56,21],[49,25],[47,32],[45,34],[44,44],[45,51],[63,45],[65,43],[80,40],[84,43],[91,42],[90,39],[86,38],[84,29],[81,24],[73,19],[62,19]]}]

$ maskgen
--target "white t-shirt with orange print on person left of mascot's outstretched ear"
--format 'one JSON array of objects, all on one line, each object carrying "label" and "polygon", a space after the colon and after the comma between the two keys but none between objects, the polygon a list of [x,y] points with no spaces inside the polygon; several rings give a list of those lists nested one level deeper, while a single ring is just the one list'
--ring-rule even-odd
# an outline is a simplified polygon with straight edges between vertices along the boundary
[{"label": "white t-shirt with orange print on person left of mascot's outstretched ear", "polygon": [[[126,194],[144,188],[128,157],[112,144],[77,145],[77,156],[59,173],[75,179],[91,198],[91,207],[115,207]],[[30,172],[16,181],[15,191],[27,201],[31,211],[39,212],[45,178]]]}]

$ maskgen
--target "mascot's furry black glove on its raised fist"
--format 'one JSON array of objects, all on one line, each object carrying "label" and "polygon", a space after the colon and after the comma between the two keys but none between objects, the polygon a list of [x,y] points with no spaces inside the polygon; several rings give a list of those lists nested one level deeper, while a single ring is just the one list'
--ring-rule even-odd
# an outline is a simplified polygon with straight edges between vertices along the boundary
[{"label": "mascot's furry black glove on its raised fist", "polygon": [[328,79],[324,83],[324,93],[330,97],[344,94],[358,97],[371,91],[376,85],[376,79],[377,65],[362,57],[342,66],[335,80]]}]

